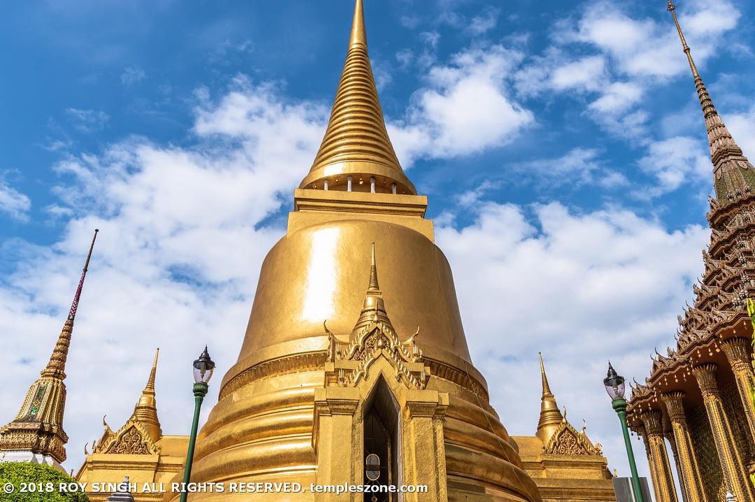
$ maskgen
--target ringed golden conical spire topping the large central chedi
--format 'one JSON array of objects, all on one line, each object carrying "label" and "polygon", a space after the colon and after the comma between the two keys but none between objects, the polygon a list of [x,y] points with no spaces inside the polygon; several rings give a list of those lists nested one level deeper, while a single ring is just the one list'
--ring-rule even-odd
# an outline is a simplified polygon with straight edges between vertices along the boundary
[{"label": "ringed golden conical spire topping the large central chedi", "polygon": [[[351,183],[349,183],[351,178]],[[356,0],[349,51],[338,85],[328,130],[310,174],[300,188],[370,190],[416,194],[399,164],[385,127],[367,53],[364,6]]]}]

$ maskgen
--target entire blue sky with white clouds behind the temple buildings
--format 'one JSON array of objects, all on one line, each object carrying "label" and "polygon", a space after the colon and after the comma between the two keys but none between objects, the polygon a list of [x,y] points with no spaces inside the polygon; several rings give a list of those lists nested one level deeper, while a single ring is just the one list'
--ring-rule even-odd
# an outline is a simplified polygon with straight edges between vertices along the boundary
[{"label": "entire blue sky with white clouds behind the temple buildings", "polygon": [[[708,235],[704,123],[665,2],[365,3],[390,134],[430,196],[473,358],[495,387],[510,383],[493,396],[504,424],[534,432],[547,347],[561,404],[626,470],[595,382],[609,357],[641,379],[654,346],[673,343]],[[168,432],[185,429],[189,345],[210,338],[235,360],[261,259],[325,131],[352,7],[4,6],[0,347],[18,356],[4,402],[20,405],[44,364],[103,230],[72,348],[85,370],[68,371],[70,468],[97,417],[128,417],[156,343]],[[755,155],[755,6],[677,8],[716,106]],[[128,385],[105,400],[108,371]],[[519,396],[524,414],[507,404]]]}]

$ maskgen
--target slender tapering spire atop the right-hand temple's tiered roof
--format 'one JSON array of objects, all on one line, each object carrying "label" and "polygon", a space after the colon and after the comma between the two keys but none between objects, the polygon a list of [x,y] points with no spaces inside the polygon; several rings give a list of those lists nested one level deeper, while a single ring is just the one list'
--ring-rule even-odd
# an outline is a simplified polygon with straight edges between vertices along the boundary
[{"label": "slender tapering spire atop the right-hand temple's tiered roof", "polygon": [[744,197],[750,196],[755,187],[755,168],[742,153],[742,149],[735,143],[729,129],[726,128],[720,115],[710,99],[703,79],[692,59],[692,50],[682,32],[679,20],[676,18],[676,5],[668,0],[668,10],[673,16],[676,31],[682,41],[684,53],[687,55],[689,68],[695,79],[700,105],[703,110],[705,126],[707,128],[708,143],[710,144],[710,159],[713,162],[713,178],[716,188],[716,198],[721,205],[728,205]]}]

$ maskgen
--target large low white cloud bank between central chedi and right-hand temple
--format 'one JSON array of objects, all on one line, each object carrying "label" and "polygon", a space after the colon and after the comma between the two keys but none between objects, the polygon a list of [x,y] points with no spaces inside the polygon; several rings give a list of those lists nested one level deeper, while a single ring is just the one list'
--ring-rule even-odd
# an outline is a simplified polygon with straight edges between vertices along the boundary
[{"label": "large low white cloud bank between central chedi and right-hand temple", "polygon": [[[575,214],[556,203],[536,206],[531,219],[516,205],[475,207],[473,223],[439,226],[436,238],[453,268],[473,362],[492,404],[509,433],[535,433],[543,351],[559,405],[575,426],[587,419],[588,435],[627,475],[602,387],[606,361],[630,379],[648,374],[652,347],[673,342],[709,231],[671,231],[629,211]],[[643,457],[638,452],[642,465]]]}]

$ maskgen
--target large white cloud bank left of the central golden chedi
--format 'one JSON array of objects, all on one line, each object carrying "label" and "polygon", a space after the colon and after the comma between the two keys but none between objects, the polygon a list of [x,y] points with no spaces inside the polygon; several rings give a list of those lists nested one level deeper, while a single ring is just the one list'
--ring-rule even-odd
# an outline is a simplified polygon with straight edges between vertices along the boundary
[{"label": "large white cloud bank left of the central golden chedi", "polygon": [[286,103],[273,89],[239,78],[217,101],[199,93],[194,146],[128,138],[67,159],[57,166],[67,183],[49,211],[84,216],[51,247],[3,244],[17,257],[0,286],[0,350],[14,357],[0,390],[12,403],[5,423],[51,353],[100,229],[66,368],[66,467],[79,466],[103,414],[113,427],[131,414],[155,347],[166,433],[186,432],[190,364],[202,346],[221,371],[235,362],[260,263],[283,233],[270,216],[307,173],[327,119],[321,106]]}]

